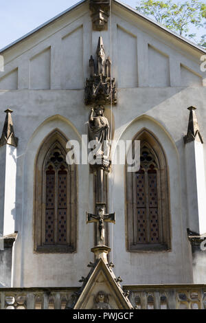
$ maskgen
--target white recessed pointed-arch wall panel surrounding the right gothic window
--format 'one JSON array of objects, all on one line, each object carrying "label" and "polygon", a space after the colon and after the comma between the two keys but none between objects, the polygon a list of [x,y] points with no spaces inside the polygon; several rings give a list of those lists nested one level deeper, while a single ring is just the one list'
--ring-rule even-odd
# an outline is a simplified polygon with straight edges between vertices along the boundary
[{"label": "white recessed pointed-arch wall panel surrounding the right gothic window", "polygon": [[[168,168],[170,170],[170,205],[171,205],[171,236],[172,236],[172,251],[171,252],[126,252],[125,236],[125,168],[124,166],[116,166],[113,169],[114,190],[116,198],[113,201],[113,208],[117,213],[117,224],[113,230],[113,261],[117,267],[121,267],[122,259],[124,259],[124,266],[122,266],[122,277],[126,284],[147,283],[165,283],[165,282],[181,282],[185,279],[185,251],[181,242],[183,235],[182,228],[182,214],[179,205],[181,205],[181,190],[179,181],[179,154],[176,151],[176,146],[171,140],[168,133],[166,133],[161,126],[154,120],[148,117],[137,118],[132,124],[129,124],[123,132],[121,139],[130,140],[141,129],[146,128],[150,130],[159,138],[167,156]],[[118,196],[118,199],[117,199]],[[119,258],[119,249],[121,250],[121,260]],[[128,267],[130,270],[128,271]],[[147,272],[146,267],[150,268]],[[119,269],[118,268],[118,269]],[[176,271],[179,271],[178,276]],[[188,279],[188,278],[186,278]]]}]

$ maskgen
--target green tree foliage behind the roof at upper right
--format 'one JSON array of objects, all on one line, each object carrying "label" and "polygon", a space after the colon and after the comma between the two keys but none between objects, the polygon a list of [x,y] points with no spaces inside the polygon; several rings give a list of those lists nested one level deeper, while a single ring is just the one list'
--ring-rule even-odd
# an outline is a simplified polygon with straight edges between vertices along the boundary
[{"label": "green tree foliage behind the roof at upper right", "polygon": [[137,10],[181,36],[206,47],[206,34],[196,41],[196,34],[191,33],[191,26],[206,27],[206,4],[200,0],[177,2],[172,0],[139,0]]}]

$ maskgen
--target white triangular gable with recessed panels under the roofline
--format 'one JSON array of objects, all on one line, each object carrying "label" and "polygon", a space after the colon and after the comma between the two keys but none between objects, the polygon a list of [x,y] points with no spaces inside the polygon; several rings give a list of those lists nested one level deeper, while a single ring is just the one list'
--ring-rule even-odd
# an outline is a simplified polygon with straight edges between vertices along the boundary
[{"label": "white triangular gable with recessed panels under the roofline", "polygon": [[[84,90],[100,36],[93,30],[89,3],[76,3],[1,49],[0,89]],[[110,32],[107,23],[102,44],[117,88],[205,86],[200,69],[204,49],[119,1],[111,1],[110,15],[113,28]],[[106,92],[101,83],[95,91]]]}]

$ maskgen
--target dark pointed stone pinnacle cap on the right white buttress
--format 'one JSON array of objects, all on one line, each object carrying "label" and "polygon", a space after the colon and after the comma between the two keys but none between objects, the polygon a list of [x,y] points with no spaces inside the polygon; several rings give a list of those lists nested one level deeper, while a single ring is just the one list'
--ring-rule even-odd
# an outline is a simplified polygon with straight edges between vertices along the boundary
[{"label": "dark pointed stone pinnacle cap on the right white buttress", "polygon": [[198,140],[203,144],[203,138],[201,137],[200,129],[198,127],[198,122],[195,114],[195,107],[187,108],[190,111],[187,135],[184,137],[184,142],[187,144],[188,142],[193,142],[194,140]]}]

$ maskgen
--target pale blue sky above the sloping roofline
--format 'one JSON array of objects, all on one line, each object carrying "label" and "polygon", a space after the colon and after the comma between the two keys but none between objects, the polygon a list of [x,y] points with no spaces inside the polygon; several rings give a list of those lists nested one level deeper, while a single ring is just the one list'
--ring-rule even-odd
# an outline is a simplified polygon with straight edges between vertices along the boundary
[{"label": "pale blue sky above the sloping roofline", "polygon": [[[78,2],[78,0],[0,1],[0,49]],[[133,8],[137,5],[137,0],[122,0],[122,2]]]}]

